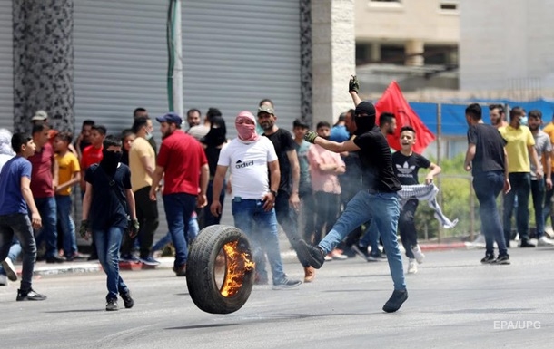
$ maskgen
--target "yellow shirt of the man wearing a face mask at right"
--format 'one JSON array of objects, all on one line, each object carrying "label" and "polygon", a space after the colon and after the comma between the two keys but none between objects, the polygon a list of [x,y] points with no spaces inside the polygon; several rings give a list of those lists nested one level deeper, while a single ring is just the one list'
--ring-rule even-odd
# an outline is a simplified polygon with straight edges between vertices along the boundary
[{"label": "yellow shirt of the man wearing a face mask at right", "polygon": [[530,172],[529,146],[535,145],[533,134],[527,126],[519,126],[514,129],[511,126],[500,127],[502,138],[507,141],[508,172]]}]

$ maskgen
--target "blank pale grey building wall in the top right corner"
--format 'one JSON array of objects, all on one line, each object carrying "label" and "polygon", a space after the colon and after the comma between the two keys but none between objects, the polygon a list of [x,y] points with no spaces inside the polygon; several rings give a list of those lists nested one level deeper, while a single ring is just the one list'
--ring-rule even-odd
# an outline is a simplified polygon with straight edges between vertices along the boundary
[{"label": "blank pale grey building wall in the top right corner", "polygon": [[554,89],[554,0],[460,2],[460,88]]}]

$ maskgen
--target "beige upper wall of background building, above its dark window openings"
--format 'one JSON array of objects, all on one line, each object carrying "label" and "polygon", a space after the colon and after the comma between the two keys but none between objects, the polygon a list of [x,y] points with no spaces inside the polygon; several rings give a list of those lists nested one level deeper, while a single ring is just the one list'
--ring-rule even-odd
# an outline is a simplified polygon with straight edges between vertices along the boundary
[{"label": "beige upper wall of background building, above its dark window openings", "polygon": [[[422,40],[455,44],[460,40],[459,11],[440,10],[445,0],[375,2],[355,0],[356,43]],[[461,2],[460,2],[461,3]]]}]

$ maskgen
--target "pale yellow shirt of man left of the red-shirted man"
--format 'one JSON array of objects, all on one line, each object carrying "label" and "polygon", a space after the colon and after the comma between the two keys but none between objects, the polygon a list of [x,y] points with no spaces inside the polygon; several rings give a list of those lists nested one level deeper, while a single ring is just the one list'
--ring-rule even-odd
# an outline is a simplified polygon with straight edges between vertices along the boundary
[{"label": "pale yellow shirt of man left of the red-shirted man", "polygon": [[152,168],[155,168],[155,153],[152,145],[142,137],[137,137],[129,150],[129,168],[131,169],[131,188],[133,191],[152,186],[152,177],[144,169],[141,158],[146,157]]}]

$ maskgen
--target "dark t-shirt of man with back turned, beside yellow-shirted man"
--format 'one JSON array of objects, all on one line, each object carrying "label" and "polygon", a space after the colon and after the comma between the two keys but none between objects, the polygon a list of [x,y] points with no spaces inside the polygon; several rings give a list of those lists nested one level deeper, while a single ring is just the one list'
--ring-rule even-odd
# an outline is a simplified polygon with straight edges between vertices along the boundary
[{"label": "dark t-shirt of man with back turned, beside yellow-shirted man", "polygon": [[504,169],[504,146],[506,141],[491,125],[478,123],[468,130],[468,143],[475,144],[475,157],[471,161],[471,174]]}]

